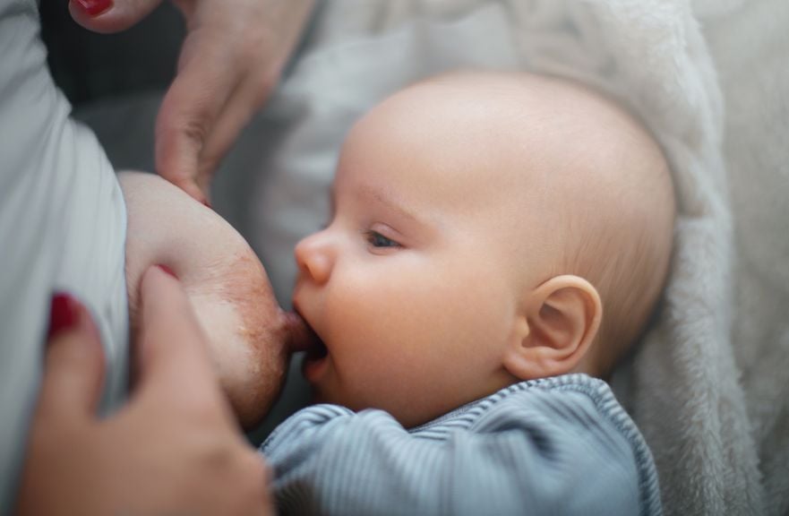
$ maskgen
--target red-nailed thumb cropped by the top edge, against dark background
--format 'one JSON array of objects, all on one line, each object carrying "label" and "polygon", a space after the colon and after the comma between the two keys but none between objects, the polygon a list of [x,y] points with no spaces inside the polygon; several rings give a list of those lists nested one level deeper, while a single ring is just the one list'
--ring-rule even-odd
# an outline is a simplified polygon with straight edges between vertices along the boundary
[{"label": "red-nailed thumb cropped by the top edge, against dark background", "polygon": [[161,0],[71,0],[72,18],[94,32],[118,32],[140,22]]}]

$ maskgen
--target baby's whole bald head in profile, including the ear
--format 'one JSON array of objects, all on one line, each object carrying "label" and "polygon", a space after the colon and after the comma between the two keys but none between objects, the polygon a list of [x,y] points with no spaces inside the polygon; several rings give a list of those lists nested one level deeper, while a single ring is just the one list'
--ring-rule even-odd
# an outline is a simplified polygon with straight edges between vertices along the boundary
[{"label": "baby's whole bald head in profile, including the ear", "polygon": [[445,75],[351,130],[330,225],[296,246],[316,399],[413,426],[521,380],[608,374],[665,281],[671,176],[612,101]]}]

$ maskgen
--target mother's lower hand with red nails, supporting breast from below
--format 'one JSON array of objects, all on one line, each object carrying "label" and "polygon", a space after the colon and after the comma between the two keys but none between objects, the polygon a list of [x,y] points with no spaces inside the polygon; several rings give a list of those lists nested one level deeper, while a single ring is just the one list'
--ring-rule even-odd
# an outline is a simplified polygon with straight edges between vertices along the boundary
[{"label": "mother's lower hand with red nails, supporting breast from below", "polygon": [[262,456],[239,434],[188,299],[158,267],[141,296],[137,385],[103,420],[97,331],[73,299],[53,302],[19,513],[270,513]]}]

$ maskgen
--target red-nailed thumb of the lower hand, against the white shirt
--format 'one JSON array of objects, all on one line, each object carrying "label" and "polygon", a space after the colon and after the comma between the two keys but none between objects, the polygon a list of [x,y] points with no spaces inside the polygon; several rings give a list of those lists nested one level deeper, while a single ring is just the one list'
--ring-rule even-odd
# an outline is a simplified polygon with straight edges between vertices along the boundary
[{"label": "red-nailed thumb of the lower hand, against the white shirt", "polygon": [[99,403],[104,360],[88,310],[64,294],[52,297],[39,417],[90,417]]}]

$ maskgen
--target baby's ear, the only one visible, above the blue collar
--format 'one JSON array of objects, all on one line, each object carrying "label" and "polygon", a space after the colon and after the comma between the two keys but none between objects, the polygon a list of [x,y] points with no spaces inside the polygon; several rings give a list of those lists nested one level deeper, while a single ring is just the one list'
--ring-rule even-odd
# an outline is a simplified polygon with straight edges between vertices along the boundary
[{"label": "baby's ear, the only one visible, above the blue collar", "polygon": [[600,296],[587,280],[545,281],[527,295],[504,367],[521,380],[570,373],[595,340],[602,316]]}]

